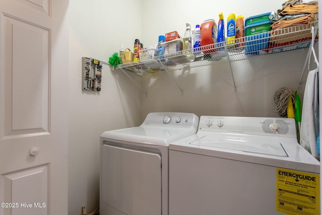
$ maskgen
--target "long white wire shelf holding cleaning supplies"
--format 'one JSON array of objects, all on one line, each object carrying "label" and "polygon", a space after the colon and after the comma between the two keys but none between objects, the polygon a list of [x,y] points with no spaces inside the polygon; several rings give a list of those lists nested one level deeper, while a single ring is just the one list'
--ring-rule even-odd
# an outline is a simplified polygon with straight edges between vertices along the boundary
[{"label": "long white wire shelf holding cleaning supplies", "polygon": [[[123,63],[115,66],[130,70],[138,75],[153,73],[166,68],[181,69],[220,62],[244,60],[249,57],[275,54],[285,51],[307,48],[312,41],[311,27],[318,29],[318,21],[305,26],[292,26],[261,34],[255,34],[233,41],[214,43],[199,48],[178,51],[162,56],[152,55],[139,61]],[[318,40],[318,34],[314,43]],[[231,42],[234,42],[231,44]],[[144,49],[143,49],[144,50]]]}]

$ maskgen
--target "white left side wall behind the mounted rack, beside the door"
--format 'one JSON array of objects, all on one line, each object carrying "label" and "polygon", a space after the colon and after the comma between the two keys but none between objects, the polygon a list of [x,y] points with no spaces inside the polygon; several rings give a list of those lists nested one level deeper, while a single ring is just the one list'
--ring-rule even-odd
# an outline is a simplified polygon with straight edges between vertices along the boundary
[{"label": "white left side wall behind the mounted rack, beside the door", "polygon": [[[135,13],[134,13],[135,12]],[[141,123],[141,92],[122,71],[103,65],[102,91],[82,91],[82,57],[108,61],[141,38],[140,1],[69,0],[68,214],[99,205],[99,136]],[[67,69],[66,69],[67,71]],[[130,74],[131,75],[131,74]],[[134,76],[139,84],[141,79]]]}]

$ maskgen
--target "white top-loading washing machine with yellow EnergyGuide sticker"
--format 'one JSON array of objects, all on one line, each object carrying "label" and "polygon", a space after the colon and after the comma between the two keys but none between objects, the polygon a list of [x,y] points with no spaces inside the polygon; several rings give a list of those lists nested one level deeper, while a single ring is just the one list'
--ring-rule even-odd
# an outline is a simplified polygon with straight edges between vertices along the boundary
[{"label": "white top-loading washing machine with yellow EnergyGuide sticker", "polygon": [[320,214],[319,162],[292,118],[201,116],[169,149],[170,215]]}]

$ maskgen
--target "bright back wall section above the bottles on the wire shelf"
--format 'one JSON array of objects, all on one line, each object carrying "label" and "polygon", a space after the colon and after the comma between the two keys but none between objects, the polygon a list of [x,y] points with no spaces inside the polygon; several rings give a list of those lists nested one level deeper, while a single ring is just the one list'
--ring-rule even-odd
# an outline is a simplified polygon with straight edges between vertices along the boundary
[{"label": "bright back wall section above the bottles on the wire shelf", "polygon": [[207,19],[214,19],[218,24],[220,12],[223,13],[225,25],[230,13],[245,18],[276,11],[281,8],[282,1],[269,2],[249,0],[245,1],[212,1],[212,0],[164,0],[162,2],[142,0],[143,44],[157,43],[158,36],[167,32],[178,31],[184,36],[186,23],[192,28]]}]

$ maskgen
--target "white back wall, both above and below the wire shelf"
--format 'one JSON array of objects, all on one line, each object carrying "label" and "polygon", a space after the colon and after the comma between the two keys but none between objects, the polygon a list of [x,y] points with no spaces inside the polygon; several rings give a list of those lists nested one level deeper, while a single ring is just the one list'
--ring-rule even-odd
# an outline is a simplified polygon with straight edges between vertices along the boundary
[{"label": "white back wall, both above and below the wire shelf", "polygon": [[[281,8],[279,0],[221,1],[143,1],[143,39],[145,45],[157,42],[158,35],[177,30],[183,36],[185,24],[193,27],[212,18],[218,23],[223,12],[226,25],[229,13],[246,18]],[[164,15],[164,16],[162,16]],[[253,57],[232,62],[237,92],[234,92],[228,63],[218,63],[170,73],[184,90],[180,90],[166,73],[148,74],[143,86],[148,96],[142,95],[142,117],[154,111],[193,112],[200,115],[266,116],[275,117],[274,93],[281,87],[297,90],[307,50]],[[307,74],[307,73],[306,73]],[[302,97],[305,87],[304,76]]]}]

